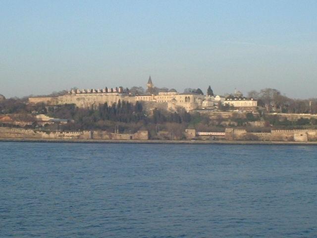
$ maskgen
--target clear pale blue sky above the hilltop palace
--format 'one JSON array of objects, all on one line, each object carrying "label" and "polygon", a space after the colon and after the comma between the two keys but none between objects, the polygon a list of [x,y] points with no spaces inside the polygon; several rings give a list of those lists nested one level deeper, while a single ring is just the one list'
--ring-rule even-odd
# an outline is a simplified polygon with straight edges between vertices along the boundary
[{"label": "clear pale blue sky above the hilltop palace", "polygon": [[0,94],[265,87],[317,97],[316,0],[0,0]]}]

